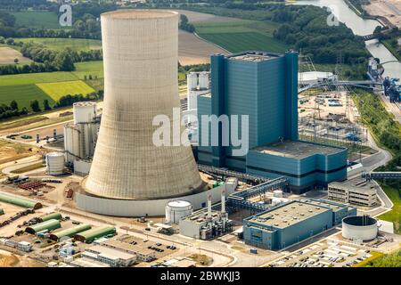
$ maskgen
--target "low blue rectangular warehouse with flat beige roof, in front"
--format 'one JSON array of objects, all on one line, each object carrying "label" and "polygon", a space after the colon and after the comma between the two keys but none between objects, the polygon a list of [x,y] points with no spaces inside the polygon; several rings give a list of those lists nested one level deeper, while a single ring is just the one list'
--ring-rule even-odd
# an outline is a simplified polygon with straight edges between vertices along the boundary
[{"label": "low blue rectangular warehouse with flat beige roof, in front", "polygon": [[291,201],[244,219],[243,237],[258,248],[287,248],[355,214],[356,208],[324,200]]}]

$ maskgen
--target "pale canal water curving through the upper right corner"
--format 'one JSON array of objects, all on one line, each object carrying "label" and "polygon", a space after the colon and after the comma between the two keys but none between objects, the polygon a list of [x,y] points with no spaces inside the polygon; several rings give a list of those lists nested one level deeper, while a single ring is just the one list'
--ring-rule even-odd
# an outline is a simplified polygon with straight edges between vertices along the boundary
[{"label": "pale canal water curving through the upper right corner", "polygon": [[[354,34],[358,36],[370,35],[381,23],[377,20],[365,20],[359,17],[344,0],[300,0],[294,4],[315,5],[319,7],[330,7],[331,12],[340,22],[343,22],[348,28],[351,28]],[[389,52],[377,39],[366,42],[366,48],[372,56],[379,58],[381,62],[397,61],[397,58]],[[401,77],[401,63],[391,62],[384,64],[384,77]]]}]

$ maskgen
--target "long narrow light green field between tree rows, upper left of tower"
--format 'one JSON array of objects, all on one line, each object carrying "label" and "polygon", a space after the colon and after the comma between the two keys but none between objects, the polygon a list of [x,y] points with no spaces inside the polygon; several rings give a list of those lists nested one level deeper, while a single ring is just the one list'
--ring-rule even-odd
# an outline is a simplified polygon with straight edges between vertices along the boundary
[{"label": "long narrow light green field between tree rows, upper left of tower", "polygon": [[28,43],[35,42],[45,45],[45,47],[61,51],[70,48],[74,51],[89,51],[102,49],[102,41],[86,38],[57,38],[57,37],[21,37],[16,41]]}]

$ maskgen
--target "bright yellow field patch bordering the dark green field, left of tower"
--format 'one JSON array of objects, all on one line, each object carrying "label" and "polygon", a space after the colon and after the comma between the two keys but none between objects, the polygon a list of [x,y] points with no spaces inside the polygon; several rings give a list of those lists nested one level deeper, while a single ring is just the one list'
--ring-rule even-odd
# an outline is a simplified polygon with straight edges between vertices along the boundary
[{"label": "bright yellow field patch bordering the dark green field, left of tower", "polygon": [[53,82],[53,83],[39,83],[37,87],[49,95],[53,101],[57,102],[62,96],[70,94],[90,94],[94,89],[81,80],[66,81],[66,82]]}]

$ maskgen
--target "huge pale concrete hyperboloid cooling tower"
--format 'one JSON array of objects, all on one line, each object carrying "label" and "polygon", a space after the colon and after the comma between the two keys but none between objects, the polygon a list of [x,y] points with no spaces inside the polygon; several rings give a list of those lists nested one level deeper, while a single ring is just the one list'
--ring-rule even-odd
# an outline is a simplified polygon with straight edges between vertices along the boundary
[{"label": "huge pale concrete hyperboloid cooling tower", "polygon": [[102,123],[86,192],[110,199],[161,199],[201,191],[191,147],[152,142],[159,128],[152,126],[153,118],[167,115],[173,126],[173,108],[180,108],[178,13],[104,13],[102,48]]}]

